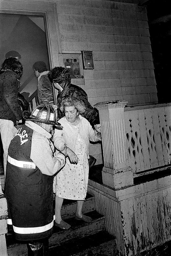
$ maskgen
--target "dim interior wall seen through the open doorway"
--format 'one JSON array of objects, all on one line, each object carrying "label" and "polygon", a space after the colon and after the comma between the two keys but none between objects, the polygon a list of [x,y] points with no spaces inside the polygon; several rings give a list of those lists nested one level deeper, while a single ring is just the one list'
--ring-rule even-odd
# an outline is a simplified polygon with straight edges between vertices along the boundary
[{"label": "dim interior wall seen through the open doorway", "polygon": [[[34,22],[31,20],[32,18]],[[0,23],[2,24],[0,29],[1,63],[5,59],[6,52],[15,50],[20,53],[20,62],[23,65],[20,92],[27,92],[31,95],[37,89],[37,78],[32,69],[34,62],[44,61],[49,69],[46,33],[42,29],[44,28],[44,18],[35,15],[3,13],[0,14]],[[41,28],[39,24],[41,24]]]}]

